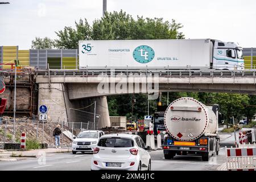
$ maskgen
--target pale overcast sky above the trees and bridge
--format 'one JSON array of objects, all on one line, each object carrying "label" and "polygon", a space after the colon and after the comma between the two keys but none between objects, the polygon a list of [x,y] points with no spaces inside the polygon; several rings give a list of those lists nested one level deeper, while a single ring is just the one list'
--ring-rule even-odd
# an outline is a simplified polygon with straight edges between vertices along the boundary
[{"label": "pale overcast sky above the trees and bridge", "polygon": [[[55,39],[55,31],[86,18],[102,16],[102,0],[0,0],[0,46],[31,48],[35,36]],[[256,47],[255,0],[107,0],[108,11],[123,10],[134,18],[164,18],[183,24],[186,39],[218,39]]]}]

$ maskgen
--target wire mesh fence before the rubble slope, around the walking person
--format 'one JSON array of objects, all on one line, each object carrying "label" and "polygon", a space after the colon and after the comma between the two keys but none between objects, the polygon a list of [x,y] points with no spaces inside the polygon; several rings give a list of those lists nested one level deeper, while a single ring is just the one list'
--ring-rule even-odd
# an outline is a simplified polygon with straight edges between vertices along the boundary
[{"label": "wire mesh fence before the rubble slope, around the walking person", "polygon": [[[60,125],[60,146],[71,147],[73,137],[77,136],[81,131],[92,130],[93,122],[43,122],[38,120],[21,120],[14,122],[13,119],[4,119],[0,122],[0,147],[5,143],[20,142],[21,133],[26,133],[26,141],[36,143],[47,143],[48,147],[55,147],[55,137],[53,130]],[[97,123],[96,123],[97,128]]]}]

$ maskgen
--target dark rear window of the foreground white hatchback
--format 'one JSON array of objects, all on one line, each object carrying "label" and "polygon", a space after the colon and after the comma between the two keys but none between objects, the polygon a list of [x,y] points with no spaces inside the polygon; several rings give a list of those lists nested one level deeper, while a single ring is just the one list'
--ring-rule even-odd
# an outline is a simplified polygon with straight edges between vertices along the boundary
[{"label": "dark rear window of the foreground white hatchback", "polygon": [[134,142],[127,138],[102,138],[98,142],[100,147],[133,147]]}]

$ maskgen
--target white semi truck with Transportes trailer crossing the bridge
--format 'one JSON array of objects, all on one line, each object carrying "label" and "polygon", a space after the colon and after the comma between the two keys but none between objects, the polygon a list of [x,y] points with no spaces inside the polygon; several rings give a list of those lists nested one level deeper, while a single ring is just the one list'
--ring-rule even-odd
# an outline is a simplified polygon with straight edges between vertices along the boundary
[{"label": "white semi truck with Transportes trailer crossing the bridge", "polygon": [[81,40],[79,67],[243,70],[242,48],[214,39]]}]

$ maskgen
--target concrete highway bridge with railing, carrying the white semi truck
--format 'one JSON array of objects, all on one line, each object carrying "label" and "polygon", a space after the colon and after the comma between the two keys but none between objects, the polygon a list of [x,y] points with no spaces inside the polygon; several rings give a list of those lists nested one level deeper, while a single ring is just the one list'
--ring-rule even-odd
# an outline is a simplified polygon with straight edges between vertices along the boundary
[{"label": "concrete highway bridge with railing, carrying the white semi truck", "polygon": [[[229,92],[256,94],[255,69],[221,71],[170,68],[48,69],[35,72],[39,105],[49,107],[52,121],[93,121],[96,100],[97,127],[110,126],[106,96],[159,92]],[[84,110],[86,109],[88,110]]]}]

